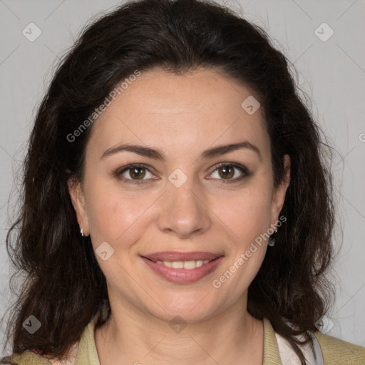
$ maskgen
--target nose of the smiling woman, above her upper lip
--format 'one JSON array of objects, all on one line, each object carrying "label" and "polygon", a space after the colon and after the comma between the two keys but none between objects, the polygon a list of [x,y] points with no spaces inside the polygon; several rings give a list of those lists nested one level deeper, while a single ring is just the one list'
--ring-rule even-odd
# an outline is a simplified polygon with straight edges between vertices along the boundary
[{"label": "nose of the smiling woman, above her upper lip", "polygon": [[206,232],[212,220],[205,200],[204,193],[193,185],[192,179],[187,179],[180,187],[168,182],[160,206],[159,229],[182,239]]}]

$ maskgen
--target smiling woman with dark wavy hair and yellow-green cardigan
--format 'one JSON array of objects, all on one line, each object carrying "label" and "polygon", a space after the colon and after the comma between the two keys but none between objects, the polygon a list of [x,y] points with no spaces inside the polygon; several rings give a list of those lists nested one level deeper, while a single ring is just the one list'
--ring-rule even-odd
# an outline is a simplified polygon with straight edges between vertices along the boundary
[{"label": "smiling woman with dark wavy hair and yellow-green cardigan", "polygon": [[88,26],[31,133],[2,363],[364,364],[315,325],[321,143],[286,58],[223,6],[133,1]]}]

